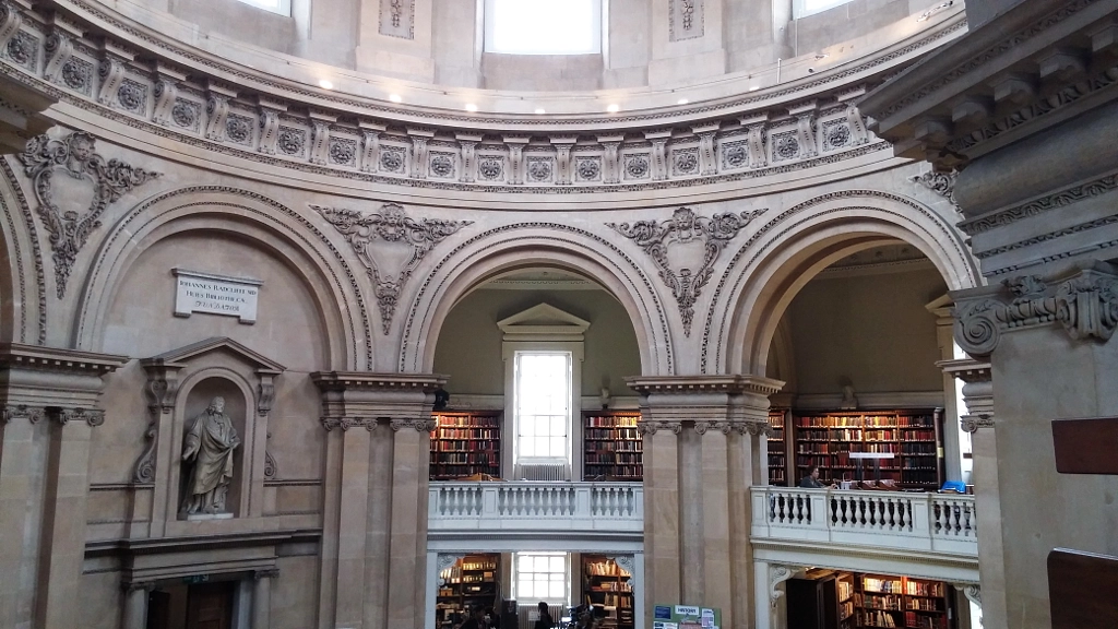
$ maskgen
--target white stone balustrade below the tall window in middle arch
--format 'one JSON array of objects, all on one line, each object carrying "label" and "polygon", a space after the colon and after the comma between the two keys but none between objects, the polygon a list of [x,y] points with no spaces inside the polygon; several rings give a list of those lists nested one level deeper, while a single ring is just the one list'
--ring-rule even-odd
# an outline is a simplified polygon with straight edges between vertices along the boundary
[{"label": "white stone balustrade below the tall window in middle arch", "polygon": [[429,532],[644,531],[638,482],[432,482]]}]

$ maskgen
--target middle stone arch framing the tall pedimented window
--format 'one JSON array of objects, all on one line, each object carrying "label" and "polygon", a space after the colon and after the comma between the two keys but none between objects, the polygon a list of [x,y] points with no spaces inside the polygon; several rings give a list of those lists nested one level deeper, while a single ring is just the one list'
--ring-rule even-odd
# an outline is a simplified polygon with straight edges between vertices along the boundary
[{"label": "middle stone arch framing the tall pedimented window", "polygon": [[443,257],[408,310],[399,369],[432,369],[438,334],[451,309],[480,282],[527,265],[556,266],[596,280],[628,313],[636,331],[643,374],[674,373],[667,317],[648,275],[605,238],[552,223],[520,223],[490,229]]}]

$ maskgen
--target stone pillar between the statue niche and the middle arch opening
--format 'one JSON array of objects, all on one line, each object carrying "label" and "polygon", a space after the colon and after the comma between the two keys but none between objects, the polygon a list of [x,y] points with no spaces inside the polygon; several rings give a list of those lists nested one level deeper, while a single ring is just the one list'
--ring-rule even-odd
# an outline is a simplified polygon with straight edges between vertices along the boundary
[{"label": "stone pillar between the statue niche and the middle arch opening", "polygon": [[[324,627],[423,627],[434,392],[446,378],[319,372],[328,444]],[[387,426],[379,424],[387,423]],[[386,430],[390,429],[390,430]],[[333,431],[332,431],[333,432]]]}]

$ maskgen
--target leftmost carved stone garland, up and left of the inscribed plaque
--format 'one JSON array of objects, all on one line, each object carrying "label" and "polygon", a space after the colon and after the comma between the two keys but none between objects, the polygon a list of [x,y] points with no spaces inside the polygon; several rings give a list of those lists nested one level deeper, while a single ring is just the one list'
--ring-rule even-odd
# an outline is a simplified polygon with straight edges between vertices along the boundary
[{"label": "leftmost carved stone garland, up and left of the inscribed plaque", "polygon": [[[61,299],[66,295],[74,261],[89,240],[89,234],[101,226],[105,208],[160,173],[134,168],[117,159],[106,161],[95,151],[93,137],[83,132],[70,133],[60,140],[51,140],[47,135],[32,138],[19,160],[35,185],[35,196],[39,200],[36,212],[50,233],[55,284],[58,299]],[[51,184],[57,170],[93,184],[93,200],[85,212],[55,205]]]}]

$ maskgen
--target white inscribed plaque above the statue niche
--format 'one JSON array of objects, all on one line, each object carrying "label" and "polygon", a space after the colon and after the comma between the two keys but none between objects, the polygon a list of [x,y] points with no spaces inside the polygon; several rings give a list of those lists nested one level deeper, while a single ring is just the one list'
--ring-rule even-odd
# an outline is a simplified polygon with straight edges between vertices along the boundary
[{"label": "white inscribed plaque above the statue niche", "polygon": [[189,317],[195,312],[237,317],[241,323],[256,322],[256,299],[259,280],[229,278],[173,269],[176,278],[174,316]]}]

